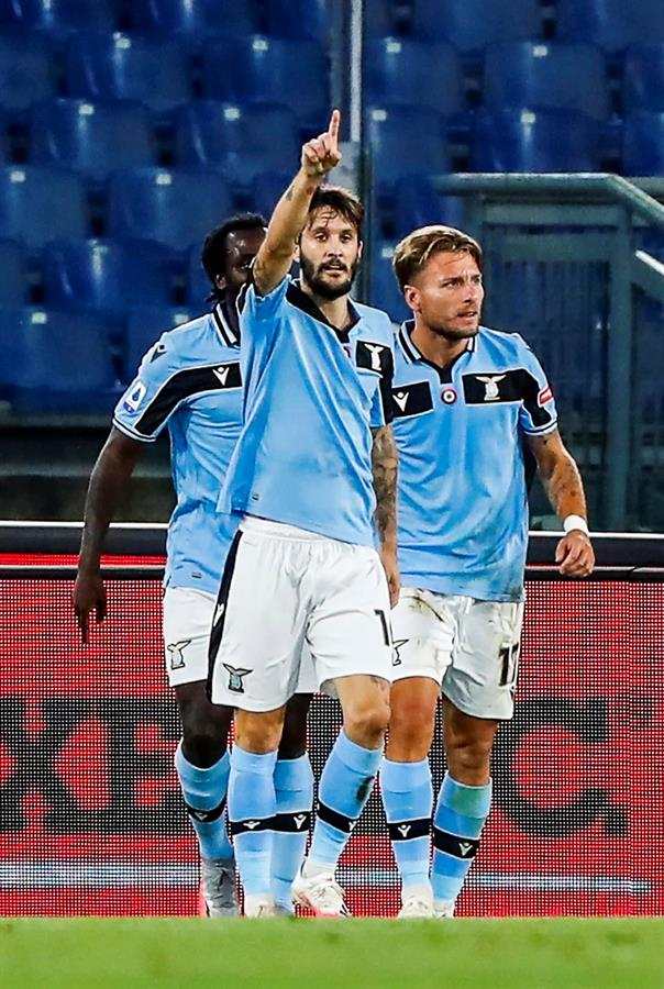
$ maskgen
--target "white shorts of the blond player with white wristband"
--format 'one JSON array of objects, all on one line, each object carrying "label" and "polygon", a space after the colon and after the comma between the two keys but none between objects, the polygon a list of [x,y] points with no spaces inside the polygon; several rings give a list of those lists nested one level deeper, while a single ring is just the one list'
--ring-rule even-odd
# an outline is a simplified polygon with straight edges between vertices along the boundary
[{"label": "white shorts of the blond player with white wristband", "polygon": [[465,714],[508,720],[523,604],[401,588],[392,611],[392,682],[428,677]]}]

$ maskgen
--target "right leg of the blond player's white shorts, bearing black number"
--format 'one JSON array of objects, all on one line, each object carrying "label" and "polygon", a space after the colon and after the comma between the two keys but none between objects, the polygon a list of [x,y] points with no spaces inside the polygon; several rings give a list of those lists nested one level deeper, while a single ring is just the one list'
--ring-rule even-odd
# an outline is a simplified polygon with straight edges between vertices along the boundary
[{"label": "right leg of the blond player's white shorts, bearing black number", "polygon": [[443,693],[466,714],[508,720],[514,710],[523,604],[466,600]]}]

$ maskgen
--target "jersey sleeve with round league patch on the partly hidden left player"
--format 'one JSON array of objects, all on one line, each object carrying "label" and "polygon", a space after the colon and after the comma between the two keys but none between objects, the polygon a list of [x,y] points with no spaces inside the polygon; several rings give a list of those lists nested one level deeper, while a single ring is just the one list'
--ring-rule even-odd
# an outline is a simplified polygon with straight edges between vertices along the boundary
[{"label": "jersey sleeve with round league patch on the partly hidden left player", "polygon": [[168,386],[176,374],[173,344],[164,334],[145,354],[136,377],[115,405],[113,425],[132,440],[154,443],[175,411]]}]

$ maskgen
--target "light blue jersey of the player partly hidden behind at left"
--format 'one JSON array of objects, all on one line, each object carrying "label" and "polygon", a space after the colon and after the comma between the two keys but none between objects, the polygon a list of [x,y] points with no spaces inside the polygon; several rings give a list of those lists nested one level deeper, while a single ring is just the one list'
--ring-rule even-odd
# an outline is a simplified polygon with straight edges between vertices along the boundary
[{"label": "light blue jersey of the player partly hidden behind at left", "polygon": [[240,340],[221,303],[163,334],[118,402],[113,424],[145,443],[168,427],[177,504],[165,585],[215,594],[237,527],[218,513],[217,499],[242,425]]}]

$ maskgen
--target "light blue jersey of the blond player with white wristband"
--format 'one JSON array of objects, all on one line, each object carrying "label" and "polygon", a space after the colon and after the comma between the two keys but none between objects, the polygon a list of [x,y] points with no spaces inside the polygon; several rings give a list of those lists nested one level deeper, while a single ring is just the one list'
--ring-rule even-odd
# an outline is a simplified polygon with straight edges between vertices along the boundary
[{"label": "light blue jersey of the blond player with white wristband", "polygon": [[451,366],[398,333],[401,582],[484,601],[520,601],[528,545],[522,440],[556,427],[551,388],[517,333],[479,329]]}]

